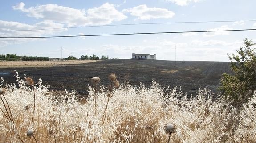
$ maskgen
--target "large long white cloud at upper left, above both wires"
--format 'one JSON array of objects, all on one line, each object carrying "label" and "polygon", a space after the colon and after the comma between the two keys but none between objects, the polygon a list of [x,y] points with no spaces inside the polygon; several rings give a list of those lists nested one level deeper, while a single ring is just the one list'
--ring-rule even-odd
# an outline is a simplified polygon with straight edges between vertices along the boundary
[{"label": "large long white cloud at upper left, above both wires", "polygon": [[127,18],[122,12],[116,10],[115,4],[109,3],[88,10],[58,6],[57,4],[25,8],[24,3],[17,4],[12,8],[28,13],[27,16],[29,17],[50,20],[68,26],[104,25]]}]

